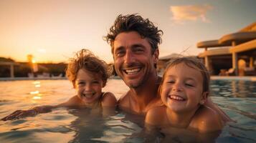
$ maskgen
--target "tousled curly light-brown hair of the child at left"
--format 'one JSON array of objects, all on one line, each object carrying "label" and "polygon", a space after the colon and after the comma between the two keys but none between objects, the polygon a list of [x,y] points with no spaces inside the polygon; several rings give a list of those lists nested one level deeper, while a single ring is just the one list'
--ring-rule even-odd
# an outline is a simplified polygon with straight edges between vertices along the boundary
[{"label": "tousled curly light-brown hair of the child at left", "polygon": [[110,77],[110,73],[112,72],[112,68],[105,61],[99,59],[87,49],[77,51],[75,57],[70,59],[67,65],[66,75],[70,82],[72,82],[74,88],[79,69],[85,69],[93,74],[99,74],[103,80],[103,87],[105,87],[108,77]]}]

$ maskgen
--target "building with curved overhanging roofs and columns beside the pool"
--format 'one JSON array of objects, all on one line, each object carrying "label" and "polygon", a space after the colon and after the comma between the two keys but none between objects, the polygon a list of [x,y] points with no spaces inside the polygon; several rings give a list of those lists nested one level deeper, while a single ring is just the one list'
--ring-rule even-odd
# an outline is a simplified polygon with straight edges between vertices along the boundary
[{"label": "building with curved overhanging roofs and columns beside the pool", "polygon": [[219,39],[200,41],[197,47],[204,48],[198,56],[213,75],[256,75],[256,22]]}]

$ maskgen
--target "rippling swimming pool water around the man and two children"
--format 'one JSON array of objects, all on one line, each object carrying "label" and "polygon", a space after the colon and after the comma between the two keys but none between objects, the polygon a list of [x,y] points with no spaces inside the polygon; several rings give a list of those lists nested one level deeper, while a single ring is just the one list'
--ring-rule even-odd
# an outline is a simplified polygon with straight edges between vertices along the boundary
[{"label": "rippling swimming pool water around the man and two children", "polygon": [[[228,124],[215,142],[256,142],[256,82],[214,80],[212,100],[235,123]],[[75,94],[67,80],[0,82],[0,118],[16,109],[65,102]],[[110,79],[103,91],[120,98],[128,91],[120,79]],[[0,121],[0,142],[186,142],[186,133],[147,135],[141,119],[116,111],[102,117],[92,110],[54,109],[36,117]],[[188,136],[189,137],[189,136]],[[182,139],[181,139],[182,138]],[[191,140],[189,140],[191,142]]]}]

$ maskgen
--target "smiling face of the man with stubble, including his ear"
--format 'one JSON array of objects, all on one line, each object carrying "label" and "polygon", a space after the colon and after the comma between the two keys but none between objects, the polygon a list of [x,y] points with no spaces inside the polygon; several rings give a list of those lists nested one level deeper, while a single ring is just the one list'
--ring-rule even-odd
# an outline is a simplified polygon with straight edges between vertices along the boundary
[{"label": "smiling face of the man with stubble, including his ear", "polygon": [[136,31],[123,32],[115,37],[113,44],[115,71],[130,88],[143,85],[156,76],[154,64],[158,50],[151,54],[151,45]]}]

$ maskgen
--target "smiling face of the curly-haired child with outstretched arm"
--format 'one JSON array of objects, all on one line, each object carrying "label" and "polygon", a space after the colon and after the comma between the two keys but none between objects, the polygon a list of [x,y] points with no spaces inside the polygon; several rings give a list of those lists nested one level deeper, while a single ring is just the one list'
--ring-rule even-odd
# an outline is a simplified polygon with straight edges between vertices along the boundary
[{"label": "smiling face of the curly-haired child with outstretched arm", "polygon": [[75,82],[77,97],[85,104],[98,102],[102,94],[103,80],[99,74],[93,74],[85,69],[79,69]]}]

